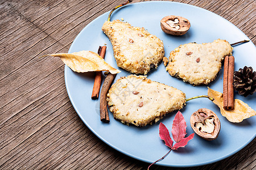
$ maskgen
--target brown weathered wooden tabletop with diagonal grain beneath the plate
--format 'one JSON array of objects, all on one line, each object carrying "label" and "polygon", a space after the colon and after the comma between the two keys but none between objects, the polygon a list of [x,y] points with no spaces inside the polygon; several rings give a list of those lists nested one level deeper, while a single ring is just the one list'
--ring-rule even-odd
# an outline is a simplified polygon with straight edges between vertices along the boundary
[{"label": "brown weathered wooden tabletop with diagonal grain beneath the plate", "polygon": [[[86,24],[123,2],[0,1],[0,169],[148,167],[148,163],[123,155],[98,139],[69,101],[64,64],[60,59],[39,58],[68,52]],[[255,44],[255,1],[176,2],[228,19]],[[255,169],[255,142],[220,162],[187,169]],[[154,165],[152,169],[172,168]]]}]

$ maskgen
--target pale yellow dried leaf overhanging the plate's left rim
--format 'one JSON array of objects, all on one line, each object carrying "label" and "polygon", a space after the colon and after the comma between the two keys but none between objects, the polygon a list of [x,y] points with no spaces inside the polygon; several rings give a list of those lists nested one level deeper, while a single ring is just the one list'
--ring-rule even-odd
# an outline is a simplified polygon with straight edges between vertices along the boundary
[{"label": "pale yellow dried leaf overhanging the plate's left rim", "polygon": [[[73,71],[84,73],[88,71],[109,71],[112,74],[120,73],[121,71],[114,69],[97,53],[90,51],[80,51],[75,53],[57,53],[47,54],[45,56],[60,57],[60,59],[71,68]],[[43,56],[44,57],[44,56]]]}]

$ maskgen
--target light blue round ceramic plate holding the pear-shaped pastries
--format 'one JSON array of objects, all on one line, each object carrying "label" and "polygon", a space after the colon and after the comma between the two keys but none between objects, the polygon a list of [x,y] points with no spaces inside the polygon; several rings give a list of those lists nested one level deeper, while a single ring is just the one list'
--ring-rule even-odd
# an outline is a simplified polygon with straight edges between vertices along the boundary
[{"label": "light blue round ceramic plate holding the pear-shaped pastries", "polygon": [[[97,53],[99,45],[106,44],[107,51],[105,61],[122,72],[117,74],[115,81],[128,73],[117,67],[113,57],[112,44],[108,37],[101,31],[102,24],[107,20],[109,12],[99,16],[93,22],[86,25],[73,41],[69,53],[80,50],[90,50]],[[184,36],[167,35],[160,28],[160,20],[167,15],[177,15],[187,18],[191,22],[191,28]],[[203,8],[175,2],[141,2],[133,3],[119,8],[112,15],[114,19],[125,19],[134,27],[144,27],[153,35],[164,42],[165,56],[177,46],[188,42],[212,42],[216,39],[224,39],[231,43],[249,38],[221,16],[213,14]],[[234,46],[233,55],[236,58],[235,70],[243,66],[252,66],[256,69],[256,49],[252,42]],[[210,69],[210,68],[209,68]],[[148,74],[148,78],[156,82],[164,83],[185,92],[187,97],[207,95],[207,86],[194,87],[184,83],[182,80],[170,76],[163,63],[157,70]],[[213,90],[222,92],[223,70],[220,71],[216,80],[209,84]],[[75,73],[65,66],[65,83],[77,114],[94,134],[109,146],[143,162],[152,163],[165,155],[169,148],[159,138],[159,122],[162,122],[171,131],[172,121],[176,112],[168,114],[157,124],[138,128],[127,126],[114,120],[113,114],[109,112],[110,123],[100,121],[99,100],[92,100],[94,73]],[[256,95],[243,97],[235,94],[236,99],[241,99],[256,109]],[[170,167],[192,167],[209,164],[227,158],[235,154],[255,137],[256,117],[248,118],[241,123],[232,123],[221,116],[220,109],[208,99],[195,99],[187,103],[181,109],[187,122],[187,133],[193,133],[189,118],[199,108],[208,108],[215,112],[221,121],[221,131],[214,141],[205,141],[199,136],[188,142],[185,148],[172,151],[158,165]]]}]

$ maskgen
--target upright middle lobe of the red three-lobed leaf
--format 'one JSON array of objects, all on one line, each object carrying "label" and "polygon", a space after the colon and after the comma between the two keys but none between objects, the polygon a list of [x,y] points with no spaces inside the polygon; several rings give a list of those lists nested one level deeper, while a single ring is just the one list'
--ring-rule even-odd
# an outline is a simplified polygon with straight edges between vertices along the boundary
[{"label": "upright middle lobe of the red three-lobed leaf", "polygon": [[175,142],[180,142],[181,139],[185,137],[186,133],[186,122],[181,112],[178,111],[174,117],[174,121],[172,124],[172,137]]}]

